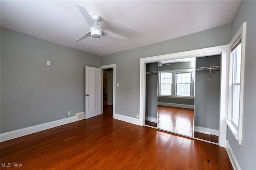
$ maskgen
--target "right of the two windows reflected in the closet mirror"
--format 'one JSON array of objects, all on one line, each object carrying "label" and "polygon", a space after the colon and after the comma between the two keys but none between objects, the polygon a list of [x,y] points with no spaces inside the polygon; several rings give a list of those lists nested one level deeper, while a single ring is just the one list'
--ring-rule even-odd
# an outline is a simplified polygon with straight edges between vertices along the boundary
[{"label": "right of the two windows reflected in the closet mirror", "polygon": [[176,73],[176,95],[190,96],[192,71],[186,73]]}]

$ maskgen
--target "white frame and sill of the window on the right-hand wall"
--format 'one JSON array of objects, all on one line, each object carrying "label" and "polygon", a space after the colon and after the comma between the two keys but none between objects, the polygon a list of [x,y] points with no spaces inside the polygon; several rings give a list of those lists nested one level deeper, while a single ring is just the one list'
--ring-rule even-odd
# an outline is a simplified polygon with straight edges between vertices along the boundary
[{"label": "white frame and sill of the window on the right-hand wall", "polygon": [[[234,47],[235,43],[241,37],[241,75],[240,75],[240,103],[239,103],[239,119],[238,126],[232,121],[232,107],[233,107],[233,59],[231,56],[231,48]],[[244,102],[244,59],[245,59],[245,38],[246,38],[246,22],[242,24],[234,38],[229,44],[230,49],[230,62],[229,62],[229,87],[228,87],[228,117],[225,121],[230,128],[232,134],[242,144],[242,127],[243,127],[243,102]]]}]

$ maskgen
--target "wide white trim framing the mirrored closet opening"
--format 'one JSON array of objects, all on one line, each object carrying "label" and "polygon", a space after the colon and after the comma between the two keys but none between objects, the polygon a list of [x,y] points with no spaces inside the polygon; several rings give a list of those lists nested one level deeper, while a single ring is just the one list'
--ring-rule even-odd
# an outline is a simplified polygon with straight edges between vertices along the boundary
[{"label": "wide white trim framing the mirrored closet opening", "polygon": [[189,57],[204,57],[209,55],[221,55],[220,71],[220,124],[219,124],[219,146],[226,146],[227,124],[225,118],[228,110],[228,65],[229,63],[229,45],[220,45],[166,55],[158,55],[140,59],[140,126],[145,124],[146,117],[146,63],[166,61],[171,59],[183,59]]}]

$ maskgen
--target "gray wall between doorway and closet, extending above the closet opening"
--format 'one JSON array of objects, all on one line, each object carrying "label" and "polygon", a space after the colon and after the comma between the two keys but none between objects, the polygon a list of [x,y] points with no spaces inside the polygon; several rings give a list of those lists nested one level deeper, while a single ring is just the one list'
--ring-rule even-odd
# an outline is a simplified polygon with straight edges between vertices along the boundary
[{"label": "gray wall between doorway and closet, extending above the closet opening", "polygon": [[101,57],[101,65],[116,63],[116,113],[136,118],[140,105],[140,58],[225,45],[230,24]]}]

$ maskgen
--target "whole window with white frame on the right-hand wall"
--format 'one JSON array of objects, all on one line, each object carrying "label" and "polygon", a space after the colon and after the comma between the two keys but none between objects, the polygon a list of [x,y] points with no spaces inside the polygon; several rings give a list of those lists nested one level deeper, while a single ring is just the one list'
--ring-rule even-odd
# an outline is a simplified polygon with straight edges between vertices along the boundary
[{"label": "whole window with white frame on the right-hand wall", "polygon": [[228,117],[225,119],[240,145],[243,122],[245,34],[246,22],[230,42]]}]

